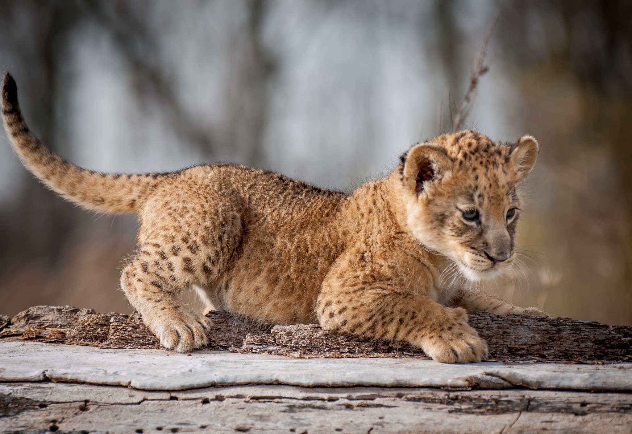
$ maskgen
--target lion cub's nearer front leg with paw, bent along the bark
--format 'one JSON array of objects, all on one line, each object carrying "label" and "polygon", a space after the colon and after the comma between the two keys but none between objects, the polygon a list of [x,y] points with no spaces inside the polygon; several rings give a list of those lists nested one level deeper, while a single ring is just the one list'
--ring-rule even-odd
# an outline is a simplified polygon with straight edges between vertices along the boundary
[{"label": "lion cub's nearer front leg with paw, bent along the bark", "polygon": [[371,273],[331,274],[317,302],[317,315],[325,329],[408,341],[444,363],[487,358],[487,344],[468,325],[465,309],[401,291],[384,279],[375,281]]}]

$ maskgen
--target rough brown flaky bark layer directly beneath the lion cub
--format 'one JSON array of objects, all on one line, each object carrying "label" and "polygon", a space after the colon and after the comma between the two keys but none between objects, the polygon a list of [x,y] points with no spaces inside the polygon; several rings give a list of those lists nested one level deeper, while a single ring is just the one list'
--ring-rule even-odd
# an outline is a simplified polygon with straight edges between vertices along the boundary
[{"label": "rough brown flaky bark layer directly beneath the lion cub", "polygon": [[[424,357],[410,344],[382,342],[326,331],[315,324],[270,329],[221,312],[213,320],[207,349],[291,357]],[[470,324],[489,345],[490,358],[502,361],[599,363],[632,361],[632,327],[532,315],[475,312]],[[0,339],[33,339],[100,348],[159,348],[138,313],[96,314],[75,307],[36,306],[0,329]]]}]

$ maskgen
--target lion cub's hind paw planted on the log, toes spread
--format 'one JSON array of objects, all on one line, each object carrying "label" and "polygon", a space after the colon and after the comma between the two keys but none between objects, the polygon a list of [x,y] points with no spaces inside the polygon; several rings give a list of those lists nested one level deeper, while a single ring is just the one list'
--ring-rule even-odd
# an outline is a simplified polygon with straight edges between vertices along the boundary
[{"label": "lion cub's hind paw planted on the log, toes spread", "polygon": [[143,315],[143,320],[164,348],[175,349],[178,353],[188,353],[205,345],[213,324],[209,318],[184,306]]}]

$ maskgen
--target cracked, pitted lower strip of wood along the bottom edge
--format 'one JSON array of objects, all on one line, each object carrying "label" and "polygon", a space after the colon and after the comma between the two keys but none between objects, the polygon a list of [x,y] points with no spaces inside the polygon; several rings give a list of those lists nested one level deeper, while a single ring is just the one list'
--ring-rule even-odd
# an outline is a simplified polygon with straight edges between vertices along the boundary
[{"label": "cracked, pitted lower strip of wood along the bottom edge", "polygon": [[1,432],[628,434],[631,429],[630,394],[288,385],[148,392],[0,384]]}]

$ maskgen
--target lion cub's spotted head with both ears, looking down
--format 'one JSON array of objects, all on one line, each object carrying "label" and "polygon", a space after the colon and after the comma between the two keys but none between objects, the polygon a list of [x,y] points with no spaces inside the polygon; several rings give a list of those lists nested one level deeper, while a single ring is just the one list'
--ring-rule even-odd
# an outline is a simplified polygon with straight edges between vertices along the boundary
[{"label": "lion cub's spotted head with both ears, looking down", "polygon": [[496,276],[514,261],[518,187],[537,156],[531,136],[501,144],[473,131],[413,146],[399,166],[411,232],[466,278]]}]

